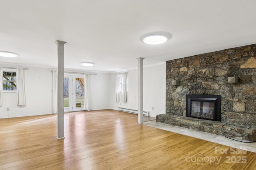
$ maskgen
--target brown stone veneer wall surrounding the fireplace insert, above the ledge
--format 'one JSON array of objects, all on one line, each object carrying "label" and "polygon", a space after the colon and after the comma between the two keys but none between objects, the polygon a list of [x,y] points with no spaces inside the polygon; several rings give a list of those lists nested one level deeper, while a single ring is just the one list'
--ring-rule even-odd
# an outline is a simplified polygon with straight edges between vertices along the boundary
[{"label": "brown stone veneer wall surrounding the fireplace insert, above the ledge", "polygon": [[[230,76],[238,83],[228,83]],[[256,127],[255,83],[256,44],[167,61],[166,115],[185,116],[186,94],[221,95],[223,123]]]}]

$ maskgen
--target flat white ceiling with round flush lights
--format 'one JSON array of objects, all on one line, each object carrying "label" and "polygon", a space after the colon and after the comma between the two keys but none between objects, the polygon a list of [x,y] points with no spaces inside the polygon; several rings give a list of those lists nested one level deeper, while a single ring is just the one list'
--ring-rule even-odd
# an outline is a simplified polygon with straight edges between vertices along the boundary
[{"label": "flat white ceiling with round flush lights", "polygon": [[[66,41],[66,69],[116,72],[256,43],[255,0],[1,0],[0,63],[57,67],[56,40]],[[142,35],[172,37],[147,45]],[[94,66],[81,66],[82,62]]]}]

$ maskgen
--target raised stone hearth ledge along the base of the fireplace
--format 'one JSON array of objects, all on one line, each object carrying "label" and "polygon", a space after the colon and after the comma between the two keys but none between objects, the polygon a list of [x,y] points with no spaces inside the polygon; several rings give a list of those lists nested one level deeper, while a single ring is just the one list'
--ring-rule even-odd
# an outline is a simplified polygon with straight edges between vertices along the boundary
[{"label": "raised stone hearth ledge along the base of the fireplace", "polygon": [[212,133],[216,135],[224,135],[226,137],[237,139],[238,141],[256,141],[256,127],[250,127],[250,129],[248,129],[244,125],[234,125],[225,122],[168,114],[156,115],[156,122],[193,129],[196,131]]}]

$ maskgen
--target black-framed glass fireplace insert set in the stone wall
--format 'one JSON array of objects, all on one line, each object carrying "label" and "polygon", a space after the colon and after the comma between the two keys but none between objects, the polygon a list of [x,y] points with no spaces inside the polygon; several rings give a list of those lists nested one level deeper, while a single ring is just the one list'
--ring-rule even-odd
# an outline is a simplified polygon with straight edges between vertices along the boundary
[{"label": "black-framed glass fireplace insert set in the stone wall", "polygon": [[186,96],[186,116],[221,121],[220,105],[220,95],[188,94]]}]

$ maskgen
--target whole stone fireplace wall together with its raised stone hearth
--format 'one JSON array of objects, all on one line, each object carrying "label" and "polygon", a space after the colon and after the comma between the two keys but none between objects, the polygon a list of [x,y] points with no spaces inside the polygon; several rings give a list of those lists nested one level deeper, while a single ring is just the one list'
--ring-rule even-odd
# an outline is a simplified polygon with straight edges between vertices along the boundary
[{"label": "whole stone fireplace wall together with its raised stone hearth", "polygon": [[[238,83],[228,83],[232,76]],[[209,101],[194,100],[197,109],[187,117],[186,95],[221,96],[217,121]],[[166,113],[156,121],[256,141],[256,44],[166,61]]]}]

